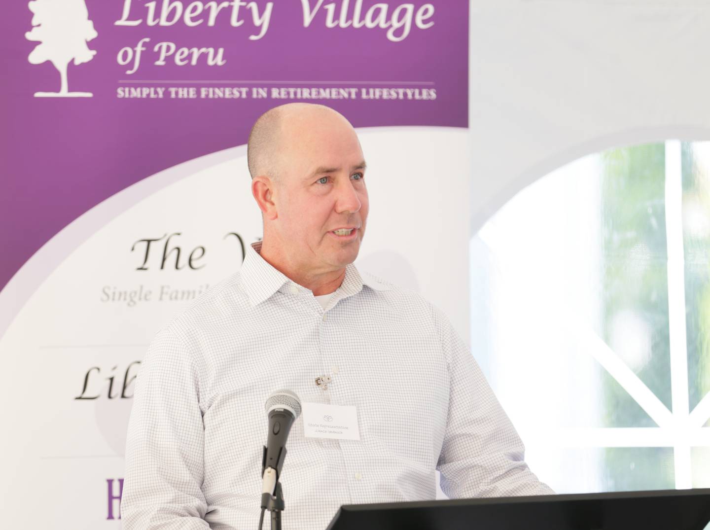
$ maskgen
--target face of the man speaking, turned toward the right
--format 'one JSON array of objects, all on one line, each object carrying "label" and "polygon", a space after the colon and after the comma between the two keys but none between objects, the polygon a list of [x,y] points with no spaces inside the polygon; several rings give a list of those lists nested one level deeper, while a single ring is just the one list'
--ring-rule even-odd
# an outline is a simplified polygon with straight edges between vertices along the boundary
[{"label": "face of the man speaking, turned toward the right", "polygon": [[304,272],[342,269],[357,258],[368,214],[360,143],[339,116],[290,125],[275,191],[280,240]]}]

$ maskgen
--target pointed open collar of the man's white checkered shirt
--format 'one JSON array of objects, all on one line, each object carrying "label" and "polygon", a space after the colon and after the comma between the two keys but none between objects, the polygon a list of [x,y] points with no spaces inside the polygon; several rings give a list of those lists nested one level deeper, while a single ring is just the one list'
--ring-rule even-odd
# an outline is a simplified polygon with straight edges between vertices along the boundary
[{"label": "pointed open collar of the man's white checkered shirt", "polygon": [[[293,287],[305,289],[290,280],[283,272],[276,270],[268,261],[261,258],[260,254],[261,241],[251,243],[246,247],[244,263],[241,265],[241,285],[251,304],[255,306],[261,304],[277,291],[288,293]],[[350,263],[345,267],[345,277],[336,293],[339,293],[339,298],[350,297],[359,293],[364,285],[376,291],[391,289],[391,286],[379,282],[367,273],[361,275],[357,267]]]}]

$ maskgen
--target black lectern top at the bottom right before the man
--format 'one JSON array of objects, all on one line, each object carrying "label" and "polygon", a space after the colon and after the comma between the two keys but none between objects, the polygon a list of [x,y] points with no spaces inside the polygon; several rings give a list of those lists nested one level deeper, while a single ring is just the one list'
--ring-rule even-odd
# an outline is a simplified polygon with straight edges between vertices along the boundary
[{"label": "black lectern top at the bottom right before the man", "polygon": [[710,530],[709,490],[346,504],[327,530]]}]

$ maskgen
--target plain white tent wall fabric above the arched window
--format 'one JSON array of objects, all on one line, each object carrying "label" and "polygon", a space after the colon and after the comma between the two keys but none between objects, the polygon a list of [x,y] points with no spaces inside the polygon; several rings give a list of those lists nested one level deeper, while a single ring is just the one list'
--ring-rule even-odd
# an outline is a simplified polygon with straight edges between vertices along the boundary
[{"label": "plain white tent wall fabric above the arched window", "polygon": [[588,153],[710,139],[710,1],[473,0],[471,233]]}]

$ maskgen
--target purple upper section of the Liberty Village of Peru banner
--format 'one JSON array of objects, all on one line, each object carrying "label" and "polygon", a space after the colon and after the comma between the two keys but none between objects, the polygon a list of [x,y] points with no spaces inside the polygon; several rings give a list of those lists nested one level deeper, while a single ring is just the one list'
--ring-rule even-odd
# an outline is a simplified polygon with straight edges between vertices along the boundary
[{"label": "purple upper section of the Liberty Village of Peru banner", "polygon": [[246,143],[272,106],[467,126],[466,0],[35,0],[1,25],[0,288],[77,216]]}]

